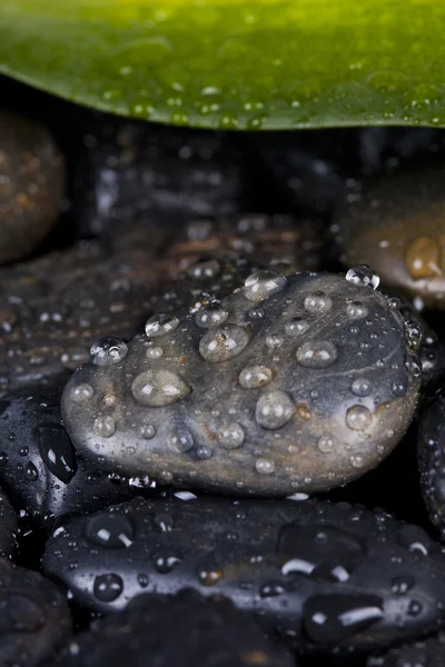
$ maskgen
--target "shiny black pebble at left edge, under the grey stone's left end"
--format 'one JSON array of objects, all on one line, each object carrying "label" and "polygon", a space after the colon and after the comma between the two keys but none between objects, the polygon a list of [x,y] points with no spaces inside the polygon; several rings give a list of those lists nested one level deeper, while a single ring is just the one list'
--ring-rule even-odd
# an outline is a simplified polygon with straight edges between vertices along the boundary
[{"label": "shiny black pebble at left edge, under the grey stone's left end", "polygon": [[0,485],[22,515],[46,522],[120,502],[144,486],[131,480],[131,487],[76,452],[61,424],[60,395],[57,388],[11,394],[0,415]]}]

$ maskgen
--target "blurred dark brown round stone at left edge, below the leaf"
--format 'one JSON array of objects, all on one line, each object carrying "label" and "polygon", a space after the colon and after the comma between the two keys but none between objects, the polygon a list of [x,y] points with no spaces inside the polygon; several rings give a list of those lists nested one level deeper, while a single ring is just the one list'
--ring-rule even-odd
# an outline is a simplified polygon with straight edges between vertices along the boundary
[{"label": "blurred dark brown round stone at left edge, below the leaf", "polygon": [[0,265],[31,252],[55,223],[63,157],[42,126],[0,110]]}]

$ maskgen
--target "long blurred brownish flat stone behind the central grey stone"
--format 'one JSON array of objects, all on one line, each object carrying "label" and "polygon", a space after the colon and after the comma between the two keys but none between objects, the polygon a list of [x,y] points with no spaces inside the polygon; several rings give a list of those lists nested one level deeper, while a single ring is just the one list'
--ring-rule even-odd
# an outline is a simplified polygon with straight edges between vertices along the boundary
[{"label": "long blurred brownish flat stone behind the central grey stone", "polygon": [[63,379],[98,338],[134,336],[158,308],[186,313],[202,292],[226,296],[261,262],[316,268],[319,249],[309,225],[258,215],[179,229],[136,225],[108,245],[82,242],[0,269],[0,396]]}]

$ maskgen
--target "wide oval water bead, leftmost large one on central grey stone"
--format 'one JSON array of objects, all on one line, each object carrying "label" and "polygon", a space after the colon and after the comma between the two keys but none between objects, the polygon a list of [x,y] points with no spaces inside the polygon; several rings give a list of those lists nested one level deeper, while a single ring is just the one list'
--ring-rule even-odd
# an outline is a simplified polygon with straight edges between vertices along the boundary
[{"label": "wide oval water bead, leftmost large one on central grey stone", "polygon": [[151,408],[169,406],[191,392],[191,387],[170,370],[146,370],[131,385],[134,398]]}]

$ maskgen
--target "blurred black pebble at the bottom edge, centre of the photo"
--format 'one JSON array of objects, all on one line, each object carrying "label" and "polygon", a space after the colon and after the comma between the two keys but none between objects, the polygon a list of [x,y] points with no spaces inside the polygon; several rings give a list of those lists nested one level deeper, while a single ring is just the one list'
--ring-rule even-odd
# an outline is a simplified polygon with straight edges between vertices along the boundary
[{"label": "blurred black pebble at the bottom edge, centre of the photo", "polygon": [[57,667],[295,666],[250,614],[227,598],[194,590],[138,596],[125,610],[93,623],[65,653]]}]

